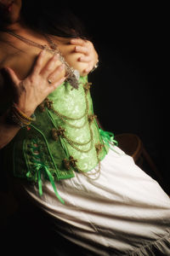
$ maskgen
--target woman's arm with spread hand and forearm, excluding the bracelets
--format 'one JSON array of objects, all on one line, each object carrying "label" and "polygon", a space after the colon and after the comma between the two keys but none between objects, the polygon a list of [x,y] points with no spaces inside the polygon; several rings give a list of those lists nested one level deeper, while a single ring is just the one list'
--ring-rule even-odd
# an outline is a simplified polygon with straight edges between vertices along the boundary
[{"label": "woman's arm with spread hand and forearm, excluding the bracelets", "polygon": [[[12,81],[14,89],[14,103],[20,111],[29,118],[34,113],[37,106],[52,92],[59,84],[65,81],[65,68],[63,65],[56,67],[55,63],[58,56],[54,55],[44,65],[44,50],[38,55],[37,61],[33,67],[31,74],[23,80],[20,80],[14,71],[7,67],[6,73]],[[48,79],[52,80],[52,84],[48,83]],[[20,125],[14,122],[8,122],[8,113],[0,117],[0,148],[6,146],[20,131]]]}]

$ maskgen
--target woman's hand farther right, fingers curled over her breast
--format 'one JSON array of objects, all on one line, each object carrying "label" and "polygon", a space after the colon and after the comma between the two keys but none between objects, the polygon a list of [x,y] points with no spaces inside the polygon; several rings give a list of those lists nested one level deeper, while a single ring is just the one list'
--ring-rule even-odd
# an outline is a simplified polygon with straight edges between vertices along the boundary
[{"label": "woman's hand farther right, fingers curled over her breast", "polygon": [[75,44],[75,52],[83,54],[77,61],[86,62],[88,64],[88,67],[83,70],[84,75],[90,73],[99,61],[98,54],[94,49],[94,44],[82,38],[72,38],[70,43]]}]

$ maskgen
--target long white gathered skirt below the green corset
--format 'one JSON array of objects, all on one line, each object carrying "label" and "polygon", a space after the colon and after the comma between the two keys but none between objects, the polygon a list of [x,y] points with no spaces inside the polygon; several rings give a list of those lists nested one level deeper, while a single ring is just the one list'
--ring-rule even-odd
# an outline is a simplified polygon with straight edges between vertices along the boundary
[{"label": "long white gathered skirt below the green corset", "polygon": [[[65,239],[88,249],[87,255],[170,255],[170,199],[160,185],[133,162],[110,150],[96,180],[76,173],[56,183],[25,190],[54,218],[54,229]],[[94,171],[91,171],[94,172]],[[55,221],[56,220],[56,221]]]}]

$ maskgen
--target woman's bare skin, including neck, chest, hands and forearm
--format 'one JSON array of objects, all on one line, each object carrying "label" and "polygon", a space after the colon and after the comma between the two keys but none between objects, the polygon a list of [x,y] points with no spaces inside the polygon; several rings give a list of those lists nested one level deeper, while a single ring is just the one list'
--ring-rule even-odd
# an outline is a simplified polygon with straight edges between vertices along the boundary
[{"label": "woman's bare skin, including neck, chest, hands and forearm", "polygon": [[[0,0],[0,7],[1,4],[8,6],[9,2]],[[8,7],[10,11],[7,28],[38,44],[47,44],[42,35],[31,31],[22,23],[20,7],[21,0],[15,0],[14,4]],[[80,38],[52,38],[65,56],[65,61],[82,76],[88,74],[98,61],[98,55],[91,42]],[[65,81],[65,67],[61,65],[57,55],[25,44],[6,32],[0,32],[0,70],[3,68],[5,71],[0,73],[1,102],[9,102],[12,99],[27,116],[31,116],[37,106]],[[48,79],[53,83],[49,84]],[[8,110],[0,117],[0,148],[6,146],[20,130],[20,126],[6,122],[7,114]]]}]

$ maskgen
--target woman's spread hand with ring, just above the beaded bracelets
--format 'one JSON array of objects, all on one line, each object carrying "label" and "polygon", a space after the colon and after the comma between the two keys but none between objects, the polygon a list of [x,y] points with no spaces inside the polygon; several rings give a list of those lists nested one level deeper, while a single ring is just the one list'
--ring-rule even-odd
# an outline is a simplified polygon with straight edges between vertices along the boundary
[{"label": "woman's spread hand with ring, just above the beaded bracelets", "polygon": [[31,116],[37,106],[65,81],[65,67],[63,64],[60,65],[59,56],[53,55],[45,65],[44,58],[45,50],[42,50],[31,74],[23,80],[17,77],[13,69],[5,68],[14,87],[14,102],[28,116]]}]

